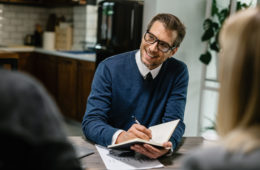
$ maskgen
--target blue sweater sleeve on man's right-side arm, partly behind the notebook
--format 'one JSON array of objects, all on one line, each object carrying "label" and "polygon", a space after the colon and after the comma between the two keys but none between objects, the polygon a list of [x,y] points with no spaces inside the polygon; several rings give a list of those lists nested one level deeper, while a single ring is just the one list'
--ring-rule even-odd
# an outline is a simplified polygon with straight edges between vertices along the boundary
[{"label": "blue sweater sleeve on man's right-side arm, partly behind the notebook", "polygon": [[184,67],[179,67],[177,75],[177,78],[172,83],[172,90],[166,103],[165,114],[162,118],[162,122],[180,119],[178,126],[170,138],[173,150],[176,149],[185,131],[183,119],[189,81],[187,66],[184,65]]}]

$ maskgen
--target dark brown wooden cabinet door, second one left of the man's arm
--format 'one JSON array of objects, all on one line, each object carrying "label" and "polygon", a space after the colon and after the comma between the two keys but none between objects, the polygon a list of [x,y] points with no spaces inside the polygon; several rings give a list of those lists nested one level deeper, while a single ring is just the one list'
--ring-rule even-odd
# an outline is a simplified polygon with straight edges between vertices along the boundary
[{"label": "dark brown wooden cabinet door, second one left of the man's arm", "polygon": [[76,119],[77,113],[77,61],[57,59],[57,101],[62,113]]}]

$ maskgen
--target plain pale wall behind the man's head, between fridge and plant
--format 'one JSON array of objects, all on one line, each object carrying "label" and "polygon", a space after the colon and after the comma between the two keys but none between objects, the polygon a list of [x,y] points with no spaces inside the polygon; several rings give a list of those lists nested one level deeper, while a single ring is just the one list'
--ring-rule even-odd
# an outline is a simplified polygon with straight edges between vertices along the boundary
[{"label": "plain pale wall behind the man's head, between fridge and plant", "polygon": [[172,13],[180,18],[187,28],[187,33],[177,54],[174,56],[184,61],[189,69],[190,81],[184,122],[185,136],[198,135],[199,97],[201,86],[202,63],[200,54],[204,44],[200,38],[205,17],[206,0],[144,0],[143,31],[147,23],[157,13]]}]

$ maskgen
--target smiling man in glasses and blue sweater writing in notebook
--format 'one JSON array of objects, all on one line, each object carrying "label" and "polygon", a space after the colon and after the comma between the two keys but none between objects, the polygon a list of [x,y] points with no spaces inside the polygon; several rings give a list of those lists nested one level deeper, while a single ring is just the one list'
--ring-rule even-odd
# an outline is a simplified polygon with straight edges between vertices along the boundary
[{"label": "smiling man in glasses and blue sweater writing in notebook", "polygon": [[180,119],[170,141],[164,143],[165,149],[148,144],[131,147],[150,158],[176,148],[185,130],[188,70],[172,56],[184,36],[185,27],[177,17],[158,14],[148,25],[140,50],[99,64],[82,122],[89,140],[103,146],[136,137],[149,140],[148,127]]}]

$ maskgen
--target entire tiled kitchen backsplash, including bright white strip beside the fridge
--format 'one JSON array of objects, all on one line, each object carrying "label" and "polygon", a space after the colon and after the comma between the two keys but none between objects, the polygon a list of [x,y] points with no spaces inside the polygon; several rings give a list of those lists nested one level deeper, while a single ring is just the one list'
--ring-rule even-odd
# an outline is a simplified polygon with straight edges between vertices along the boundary
[{"label": "entire tiled kitchen backsplash, including bright white strip beside the fridge", "polygon": [[96,41],[96,6],[45,8],[0,4],[0,45],[23,45],[25,36],[34,33],[36,24],[45,30],[52,13],[73,23],[74,50],[82,49],[82,41]]}]

